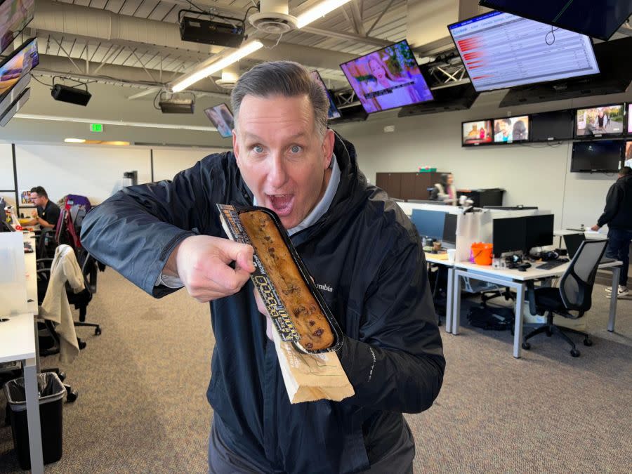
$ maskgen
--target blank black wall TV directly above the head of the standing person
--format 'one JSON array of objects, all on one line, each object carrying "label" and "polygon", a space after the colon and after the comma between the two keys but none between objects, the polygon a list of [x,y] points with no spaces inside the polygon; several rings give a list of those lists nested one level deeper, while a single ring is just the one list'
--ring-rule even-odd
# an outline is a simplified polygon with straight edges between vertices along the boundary
[{"label": "blank black wall TV directly above the head of the standing person", "polygon": [[623,145],[619,140],[573,143],[571,172],[616,173],[621,166]]}]

